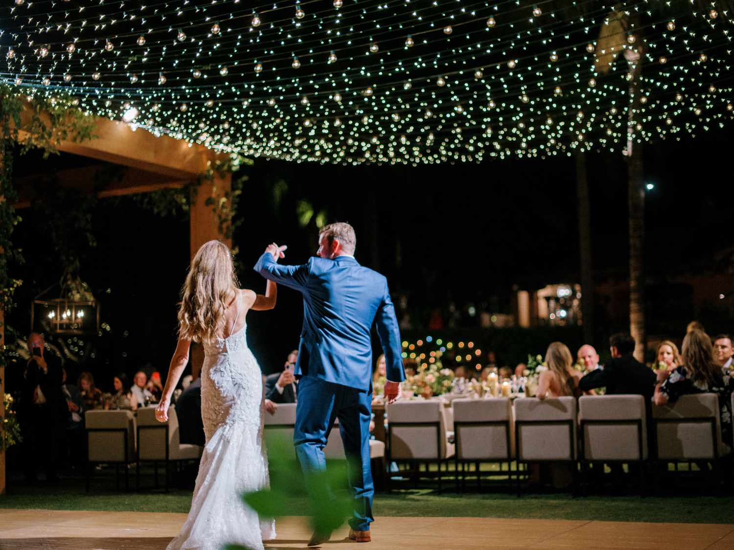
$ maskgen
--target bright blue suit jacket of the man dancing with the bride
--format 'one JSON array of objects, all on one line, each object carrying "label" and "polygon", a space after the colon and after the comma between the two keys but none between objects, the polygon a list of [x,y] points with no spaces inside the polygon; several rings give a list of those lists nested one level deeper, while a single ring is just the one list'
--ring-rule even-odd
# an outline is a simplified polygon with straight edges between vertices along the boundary
[{"label": "bright blue suit jacket of the man dancing with the bride", "polygon": [[400,331],[385,276],[352,257],[311,257],[303,265],[280,265],[267,252],[258,260],[255,271],[303,295],[303,329],[295,375],[370,390],[371,330],[375,324],[388,380],[404,380]]}]

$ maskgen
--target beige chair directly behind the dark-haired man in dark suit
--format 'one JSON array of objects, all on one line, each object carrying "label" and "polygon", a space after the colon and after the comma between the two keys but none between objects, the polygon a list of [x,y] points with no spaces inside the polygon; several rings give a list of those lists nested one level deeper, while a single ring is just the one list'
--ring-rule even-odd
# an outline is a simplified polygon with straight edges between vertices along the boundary
[{"label": "beige chair directly behind the dark-haired man in dark suit", "polygon": [[581,472],[589,463],[639,463],[640,491],[647,461],[647,414],[642,395],[585,395],[578,400]]}]

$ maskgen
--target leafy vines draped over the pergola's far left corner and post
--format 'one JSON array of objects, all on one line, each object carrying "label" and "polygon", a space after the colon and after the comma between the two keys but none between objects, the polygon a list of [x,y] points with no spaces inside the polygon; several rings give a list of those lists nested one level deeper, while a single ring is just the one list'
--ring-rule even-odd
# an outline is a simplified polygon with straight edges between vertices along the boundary
[{"label": "leafy vines draped over the pergola's far left corner and post", "polygon": [[[12,185],[13,153],[34,148],[46,157],[57,153],[63,141],[92,138],[94,119],[87,117],[71,98],[27,97],[18,88],[0,84],[0,307],[12,309],[14,290],[21,281],[10,276],[9,266],[22,263],[22,251],[12,246],[12,232],[21,221],[14,204],[18,192]],[[0,354],[0,366],[5,359]]]}]

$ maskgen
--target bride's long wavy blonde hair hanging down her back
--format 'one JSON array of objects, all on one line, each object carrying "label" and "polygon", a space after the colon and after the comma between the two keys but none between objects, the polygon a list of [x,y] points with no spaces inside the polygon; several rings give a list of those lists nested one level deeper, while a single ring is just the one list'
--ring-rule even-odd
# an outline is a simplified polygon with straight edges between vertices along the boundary
[{"label": "bride's long wavy blonde hair hanging down her back", "polygon": [[192,260],[178,304],[178,337],[212,342],[225,333],[225,313],[239,288],[232,256],[221,241],[208,241]]}]

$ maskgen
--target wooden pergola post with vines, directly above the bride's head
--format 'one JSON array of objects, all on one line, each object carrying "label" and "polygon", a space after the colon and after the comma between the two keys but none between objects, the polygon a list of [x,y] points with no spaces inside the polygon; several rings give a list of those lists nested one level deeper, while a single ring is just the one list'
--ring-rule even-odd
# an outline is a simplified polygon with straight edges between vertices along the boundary
[{"label": "wooden pergola post with vines, directly above the bride's head", "polygon": [[[232,175],[214,175],[211,181],[205,181],[197,190],[196,197],[191,198],[189,209],[189,228],[191,235],[191,257],[193,258],[203,243],[218,239],[232,248],[232,238],[226,237],[228,227],[219,231],[219,217],[215,210],[222,197],[229,197],[232,190]],[[214,199],[214,204],[207,205],[207,199]],[[229,200],[229,199],[228,199]],[[211,202],[211,201],[210,201]]]}]

